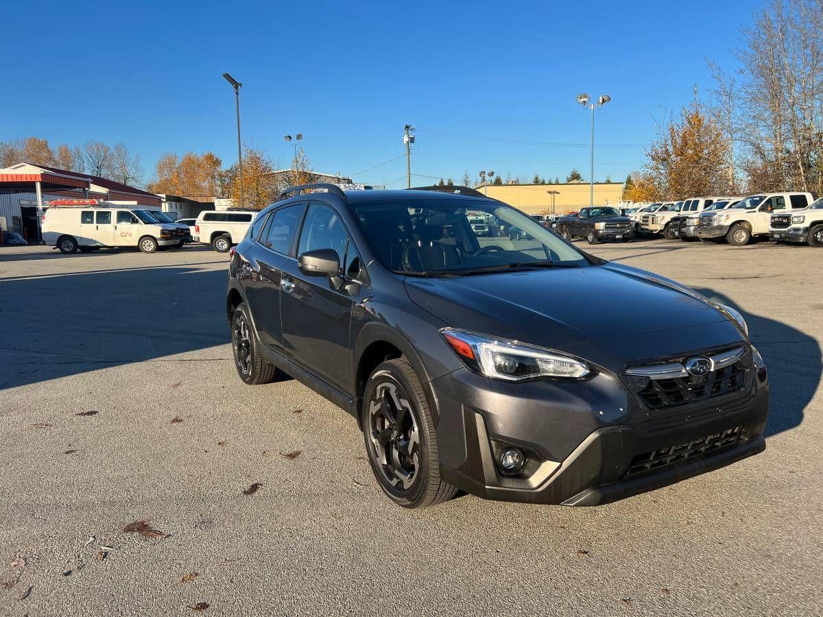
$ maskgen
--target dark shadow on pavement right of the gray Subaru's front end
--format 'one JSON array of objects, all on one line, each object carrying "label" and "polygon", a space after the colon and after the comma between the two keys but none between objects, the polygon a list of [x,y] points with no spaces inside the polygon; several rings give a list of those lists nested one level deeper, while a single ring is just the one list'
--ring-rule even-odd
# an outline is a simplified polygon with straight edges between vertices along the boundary
[{"label": "dark shadow on pavement right of the gray Subaru's front end", "polygon": [[721,304],[737,308],[749,325],[751,342],[769,370],[770,409],[765,436],[799,426],[803,412],[815,396],[823,374],[821,346],[813,337],[776,319],[747,313],[718,291],[695,291]]}]

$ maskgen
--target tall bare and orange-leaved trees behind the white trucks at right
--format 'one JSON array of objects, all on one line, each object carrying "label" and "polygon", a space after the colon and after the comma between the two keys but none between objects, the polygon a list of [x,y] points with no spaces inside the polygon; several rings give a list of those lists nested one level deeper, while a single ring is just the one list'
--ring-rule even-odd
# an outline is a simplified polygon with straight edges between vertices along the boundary
[{"label": "tall bare and orange-leaved trees behind the white trucks at right", "polygon": [[714,88],[658,123],[638,202],[774,191],[823,193],[823,0],[768,0],[743,28],[732,74],[709,61]]}]

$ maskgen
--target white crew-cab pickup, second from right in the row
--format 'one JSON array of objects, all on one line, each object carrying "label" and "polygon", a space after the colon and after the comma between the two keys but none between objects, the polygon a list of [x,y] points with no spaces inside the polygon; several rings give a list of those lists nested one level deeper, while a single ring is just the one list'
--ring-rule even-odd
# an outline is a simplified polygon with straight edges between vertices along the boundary
[{"label": "white crew-cab pickup, second from right in the row", "polygon": [[732,246],[749,244],[753,236],[769,234],[773,214],[791,214],[806,209],[814,198],[811,193],[760,193],[750,195],[737,206],[700,216],[697,237],[701,240],[725,238]]}]

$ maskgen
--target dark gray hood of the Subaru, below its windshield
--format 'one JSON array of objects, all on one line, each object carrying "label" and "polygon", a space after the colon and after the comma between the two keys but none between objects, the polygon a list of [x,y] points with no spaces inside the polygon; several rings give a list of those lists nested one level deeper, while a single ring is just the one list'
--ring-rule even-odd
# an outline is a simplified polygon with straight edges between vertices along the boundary
[{"label": "dark gray hood of the Subaru, below its windshield", "polygon": [[[592,341],[659,338],[661,332],[728,323],[696,292],[651,272],[613,263],[480,276],[407,277],[406,288],[412,302],[451,327],[573,353],[574,346]],[[734,339],[735,332],[732,328],[724,336]],[[706,346],[714,344],[719,343]]]}]

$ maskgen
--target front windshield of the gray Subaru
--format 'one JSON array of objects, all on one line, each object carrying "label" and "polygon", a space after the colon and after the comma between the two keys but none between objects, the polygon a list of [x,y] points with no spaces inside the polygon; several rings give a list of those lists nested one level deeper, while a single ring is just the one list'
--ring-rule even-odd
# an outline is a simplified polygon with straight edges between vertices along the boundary
[{"label": "front windshield of the gray Subaru", "polygon": [[[462,275],[590,263],[543,225],[499,202],[467,199],[463,205],[441,199],[414,206],[384,202],[353,208],[374,255],[398,274]],[[486,229],[472,229],[469,209],[483,213]]]}]

